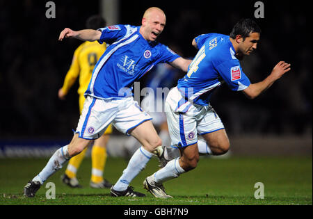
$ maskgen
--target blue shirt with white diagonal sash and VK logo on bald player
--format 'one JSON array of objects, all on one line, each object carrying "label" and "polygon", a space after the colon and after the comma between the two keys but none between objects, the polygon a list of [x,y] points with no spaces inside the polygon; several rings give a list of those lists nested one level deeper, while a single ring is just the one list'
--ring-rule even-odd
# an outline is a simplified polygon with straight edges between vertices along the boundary
[{"label": "blue shirt with white diagonal sash and VK logo on bald player", "polygon": [[179,58],[159,42],[148,42],[139,33],[140,26],[115,25],[99,29],[100,44],[110,44],[99,58],[85,95],[99,99],[129,97],[134,81],[157,63],[171,63]]}]

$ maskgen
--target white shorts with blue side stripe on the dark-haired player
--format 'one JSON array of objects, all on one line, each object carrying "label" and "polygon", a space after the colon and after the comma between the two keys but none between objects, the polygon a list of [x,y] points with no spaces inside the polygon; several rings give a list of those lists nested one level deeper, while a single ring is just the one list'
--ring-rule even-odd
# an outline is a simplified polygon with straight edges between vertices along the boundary
[{"label": "white shorts with blue side stripe on the dark-haired player", "polygon": [[186,101],[177,87],[168,93],[165,104],[172,147],[186,147],[198,142],[198,134],[225,129],[214,108]]}]

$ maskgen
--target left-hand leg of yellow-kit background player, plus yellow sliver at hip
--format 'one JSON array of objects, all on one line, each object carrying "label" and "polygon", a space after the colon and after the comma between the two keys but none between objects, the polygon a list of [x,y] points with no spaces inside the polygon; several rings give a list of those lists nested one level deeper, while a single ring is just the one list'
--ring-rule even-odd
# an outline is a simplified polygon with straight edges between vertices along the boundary
[{"label": "left-hand leg of yellow-kit background player, plus yellow sliver at hip", "polygon": [[[80,113],[83,111],[83,104],[85,100],[86,98],[83,95],[79,95],[79,112]],[[70,186],[72,188],[81,188],[81,185],[79,184],[79,181],[77,180],[77,171],[79,170],[81,162],[83,161],[83,158],[86,155],[87,149],[88,147],[83,149],[83,151],[80,154],[77,154],[77,156],[72,157],[72,159],[70,159],[70,161],[68,162],[67,168],[65,170],[65,174],[62,175],[61,177],[63,183],[66,184],[67,186]]]}]

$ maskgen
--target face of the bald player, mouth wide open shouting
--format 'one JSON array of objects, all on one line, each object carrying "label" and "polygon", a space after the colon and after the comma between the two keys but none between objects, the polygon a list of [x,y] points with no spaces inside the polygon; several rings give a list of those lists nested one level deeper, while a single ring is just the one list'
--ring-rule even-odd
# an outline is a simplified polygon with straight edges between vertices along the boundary
[{"label": "face of the bald player, mouth wide open shouting", "polygon": [[148,41],[157,40],[166,25],[166,17],[163,13],[152,12],[143,19],[143,38]]}]

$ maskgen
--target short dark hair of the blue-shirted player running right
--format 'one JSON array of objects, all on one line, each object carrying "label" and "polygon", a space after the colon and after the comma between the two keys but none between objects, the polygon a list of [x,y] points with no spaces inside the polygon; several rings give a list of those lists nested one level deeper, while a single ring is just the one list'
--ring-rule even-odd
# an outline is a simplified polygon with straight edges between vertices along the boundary
[{"label": "short dark hair of the blue-shirted player running right", "polygon": [[261,28],[257,23],[250,19],[241,19],[237,22],[230,33],[230,38],[235,39],[236,35],[241,35],[243,40],[250,35],[250,33],[261,33]]}]

